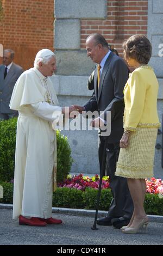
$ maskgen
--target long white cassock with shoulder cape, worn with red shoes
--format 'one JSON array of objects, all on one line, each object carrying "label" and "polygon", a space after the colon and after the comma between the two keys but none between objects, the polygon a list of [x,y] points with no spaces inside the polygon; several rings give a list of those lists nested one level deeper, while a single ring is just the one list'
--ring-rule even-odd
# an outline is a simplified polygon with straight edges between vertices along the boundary
[{"label": "long white cassock with shoulder cape, worn with red shoes", "polygon": [[49,77],[36,68],[18,78],[10,101],[18,110],[13,218],[52,216],[53,169],[61,107]]}]

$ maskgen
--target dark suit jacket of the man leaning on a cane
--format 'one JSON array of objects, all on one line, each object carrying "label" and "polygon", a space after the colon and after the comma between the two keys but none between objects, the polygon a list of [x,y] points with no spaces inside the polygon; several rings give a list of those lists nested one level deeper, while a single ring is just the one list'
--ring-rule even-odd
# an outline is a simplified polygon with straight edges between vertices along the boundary
[{"label": "dark suit jacket of the man leaning on a cane", "polygon": [[[123,134],[123,88],[128,80],[128,69],[123,59],[110,53],[102,70],[99,89],[97,87],[97,66],[94,76],[94,94],[85,104],[86,111],[111,111],[111,133],[108,143],[120,141]],[[105,119],[106,120],[106,119]]]}]

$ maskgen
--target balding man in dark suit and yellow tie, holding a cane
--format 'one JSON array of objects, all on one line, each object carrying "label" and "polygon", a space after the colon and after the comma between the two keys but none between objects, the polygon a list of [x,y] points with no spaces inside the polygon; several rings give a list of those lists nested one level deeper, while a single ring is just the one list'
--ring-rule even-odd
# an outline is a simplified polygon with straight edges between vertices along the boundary
[{"label": "balding man in dark suit and yellow tie, holding a cane", "polygon": [[[101,175],[109,175],[112,202],[108,215],[97,219],[99,225],[113,225],[121,228],[127,225],[133,214],[133,202],[128,190],[127,180],[115,176],[116,162],[120,152],[120,139],[123,135],[123,88],[128,79],[127,65],[108,48],[108,42],[101,34],[91,34],[86,39],[87,56],[97,63],[94,75],[94,93],[85,106],[75,106],[82,111],[98,111],[99,117],[92,121],[98,126],[99,119],[106,125],[105,113],[111,112],[111,133],[104,136],[99,129],[99,163]],[[99,78],[98,78],[99,70]],[[100,127],[100,126],[99,126]],[[103,133],[103,134],[102,134]],[[102,173],[102,159],[106,142],[106,173]]]}]

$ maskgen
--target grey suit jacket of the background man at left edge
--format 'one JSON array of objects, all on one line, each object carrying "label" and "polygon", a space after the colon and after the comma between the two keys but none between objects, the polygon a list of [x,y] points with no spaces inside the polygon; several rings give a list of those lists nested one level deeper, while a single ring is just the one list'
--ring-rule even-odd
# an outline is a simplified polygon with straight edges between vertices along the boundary
[{"label": "grey suit jacket of the background man at left edge", "polygon": [[23,72],[21,66],[12,63],[4,80],[4,65],[0,65],[0,113],[12,114],[16,111],[10,109],[9,103],[15,83]]}]

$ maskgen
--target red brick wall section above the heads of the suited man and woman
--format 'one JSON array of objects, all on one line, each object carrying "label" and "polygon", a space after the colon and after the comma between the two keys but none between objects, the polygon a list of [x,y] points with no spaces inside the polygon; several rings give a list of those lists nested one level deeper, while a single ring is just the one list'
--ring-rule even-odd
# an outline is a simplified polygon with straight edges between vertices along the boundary
[{"label": "red brick wall section above the heads of the suited man and woman", "polygon": [[101,33],[112,48],[122,56],[122,42],[133,34],[147,34],[146,0],[108,0],[105,20],[81,20],[81,48],[91,33]]}]

